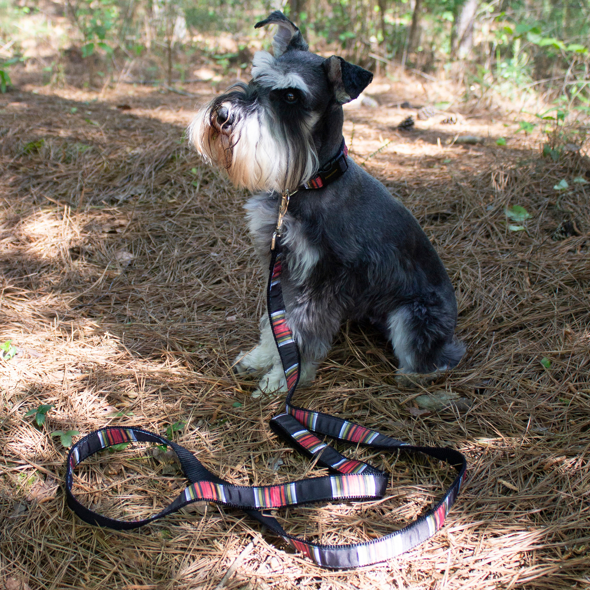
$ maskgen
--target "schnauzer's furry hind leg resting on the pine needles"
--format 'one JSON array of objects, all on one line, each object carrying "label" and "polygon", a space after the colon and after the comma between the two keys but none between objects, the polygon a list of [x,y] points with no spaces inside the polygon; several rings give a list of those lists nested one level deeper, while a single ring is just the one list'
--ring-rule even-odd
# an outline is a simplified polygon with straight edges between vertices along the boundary
[{"label": "schnauzer's furry hind leg resting on the pine needles", "polygon": [[[465,353],[465,346],[454,338],[454,309],[444,301],[417,299],[389,314],[391,342],[399,360],[398,383],[409,385],[404,375],[428,375],[432,381],[440,372],[454,368]],[[415,379],[414,379],[415,381]]]}]

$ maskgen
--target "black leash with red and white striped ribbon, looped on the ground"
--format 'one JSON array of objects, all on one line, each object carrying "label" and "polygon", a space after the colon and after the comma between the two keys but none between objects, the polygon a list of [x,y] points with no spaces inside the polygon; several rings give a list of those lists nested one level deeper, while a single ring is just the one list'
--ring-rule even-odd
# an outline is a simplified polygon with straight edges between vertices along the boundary
[{"label": "black leash with red and white striped ribbon, looped on the ground", "polygon": [[[324,176],[321,176],[322,171],[316,176],[316,179],[320,178],[320,181],[322,181],[322,186],[326,184],[326,173],[333,172],[330,175],[331,182],[341,176],[348,168],[345,150],[346,146],[336,158],[330,160],[333,163],[330,169],[328,169],[328,166],[324,166],[322,169]],[[342,153],[344,153],[343,158],[341,157]],[[346,165],[344,169],[342,169],[342,161]],[[340,174],[337,175],[338,171]],[[244,512],[268,527],[294,549],[303,553],[318,565],[326,568],[345,569],[378,563],[400,555],[424,542],[444,525],[445,517],[457,499],[461,481],[467,468],[465,457],[461,453],[451,448],[415,447],[354,422],[323,414],[322,412],[300,408],[292,403],[293,393],[299,382],[301,359],[299,348],[287,324],[283,293],[281,291],[281,268],[283,264],[281,229],[284,215],[289,206],[290,196],[291,194],[288,191],[281,194],[277,227],[272,241],[267,286],[268,316],[281,364],[283,365],[288,390],[286,412],[272,418],[270,428],[291,447],[312,458],[320,466],[326,467],[330,475],[305,478],[276,486],[235,486],[207,470],[191,451],[158,434],[142,428],[106,427],[91,432],[78,441],[70,449],[66,461],[65,495],[67,504],[84,522],[114,530],[137,529],[163,516],[177,512],[182,507],[193,502],[211,501],[222,506],[244,510]],[[411,525],[395,533],[366,543],[352,545],[312,543],[300,537],[289,535],[273,516],[268,516],[263,510],[332,500],[380,499],[385,495],[389,478],[385,471],[340,454],[335,448],[320,440],[318,435],[383,451],[425,454],[453,466],[457,471],[457,476],[448,490],[445,491],[442,499],[431,510],[419,517]],[[83,506],[72,493],[76,466],[94,453],[122,442],[154,442],[169,445],[178,455],[182,470],[186,478],[191,482],[169,506],[147,519],[126,521],[109,518]]]}]

